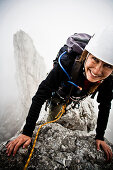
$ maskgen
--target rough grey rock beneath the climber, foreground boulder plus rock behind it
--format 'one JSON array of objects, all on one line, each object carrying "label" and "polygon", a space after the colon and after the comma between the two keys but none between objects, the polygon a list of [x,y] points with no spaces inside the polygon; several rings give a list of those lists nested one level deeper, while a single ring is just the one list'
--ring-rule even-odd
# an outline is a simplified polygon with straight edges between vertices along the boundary
[{"label": "rough grey rock beneath the climber, foreground boulder plus rock behind it", "polygon": [[[43,126],[35,145],[35,149],[28,165],[29,170],[112,170],[113,160],[106,163],[102,150],[97,151],[95,146],[95,135],[91,131],[95,127],[95,117],[92,116],[91,102],[84,101],[85,107],[80,107],[79,111],[84,111],[84,119],[74,109],[67,108],[67,114],[55,123]],[[84,106],[83,102],[81,106]],[[87,108],[87,106],[89,106]],[[93,108],[93,107],[92,107]],[[87,115],[90,109],[90,117]],[[71,114],[72,111],[72,114]],[[75,114],[75,128],[73,116]],[[67,116],[67,118],[66,118]],[[68,118],[70,120],[68,120]],[[82,118],[82,119],[81,119]],[[81,119],[81,120],[80,120]],[[64,121],[65,120],[65,121]],[[69,121],[72,124],[69,125]],[[82,123],[81,123],[82,121]],[[33,140],[37,130],[44,122],[38,122],[33,134]],[[76,126],[80,126],[79,128]],[[89,126],[90,124],[90,126]],[[85,126],[85,128],[82,126]],[[91,127],[88,128],[87,127]],[[113,150],[113,145],[109,144]],[[19,149],[15,157],[7,157],[5,154],[5,144],[1,145],[0,168],[19,170],[23,169],[32,146],[28,149]]]}]

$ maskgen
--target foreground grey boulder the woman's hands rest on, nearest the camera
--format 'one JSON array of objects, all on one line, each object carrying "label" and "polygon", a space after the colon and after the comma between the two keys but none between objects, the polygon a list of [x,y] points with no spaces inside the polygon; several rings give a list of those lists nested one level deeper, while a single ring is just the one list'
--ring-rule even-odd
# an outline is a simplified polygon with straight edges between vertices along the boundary
[{"label": "foreground grey boulder the woman's hands rest on, nearest the camera", "polygon": [[[58,123],[48,124],[40,131],[28,169],[112,170],[113,161],[107,164],[103,151],[96,151],[94,137],[79,136],[76,131],[64,128]],[[113,145],[108,141],[107,143],[113,149]],[[7,157],[5,147],[2,147],[0,168],[23,169],[30,149],[31,147],[28,150],[20,148],[15,157]]]}]

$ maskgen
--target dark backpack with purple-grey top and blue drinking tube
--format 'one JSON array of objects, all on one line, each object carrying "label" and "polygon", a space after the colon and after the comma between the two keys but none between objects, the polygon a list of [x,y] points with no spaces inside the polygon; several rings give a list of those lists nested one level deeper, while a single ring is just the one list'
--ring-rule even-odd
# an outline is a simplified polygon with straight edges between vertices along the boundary
[{"label": "dark backpack with purple-grey top and blue drinking tube", "polygon": [[[77,80],[79,70],[81,68],[82,63],[78,62],[85,46],[89,42],[91,36],[85,33],[75,33],[74,35],[70,36],[66,44],[60,49],[60,51],[57,54],[57,57],[55,60],[53,60],[53,67],[56,63],[58,63],[61,67],[61,69],[65,72],[65,74],[68,77],[68,83],[73,84],[74,86],[80,88],[75,83],[72,82]],[[66,65],[68,63],[68,67],[71,63],[73,64],[72,67],[72,78],[69,76],[66,69],[63,67],[63,65]],[[81,89],[81,88],[80,88]]]}]

